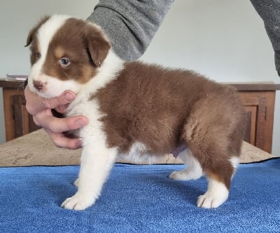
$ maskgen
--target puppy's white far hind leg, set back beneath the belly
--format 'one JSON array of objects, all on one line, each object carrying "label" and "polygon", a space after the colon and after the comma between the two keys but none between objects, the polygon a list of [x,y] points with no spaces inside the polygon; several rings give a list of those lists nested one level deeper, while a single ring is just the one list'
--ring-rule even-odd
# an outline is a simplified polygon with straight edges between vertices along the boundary
[{"label": "puppy's white far hind leg, set back beneath the belly", "polygon": [[172,180],[197,180],[202,177],[202,167],[200,162],[193,156],[189,148],[179,153],[179,157],[186,164],[186,168],[181,171],[174,171],[169,175]]}]

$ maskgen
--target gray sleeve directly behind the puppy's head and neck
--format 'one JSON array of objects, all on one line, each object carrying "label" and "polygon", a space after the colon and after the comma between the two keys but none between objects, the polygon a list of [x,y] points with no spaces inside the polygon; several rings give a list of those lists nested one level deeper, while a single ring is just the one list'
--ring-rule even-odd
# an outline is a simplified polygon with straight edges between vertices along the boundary
[{"label": "gray sleeve directly behind the puppy's head and neck", "polygon": [[87,20],[104,29],[123,60],[143,55],[174,0],[100,0]]}]

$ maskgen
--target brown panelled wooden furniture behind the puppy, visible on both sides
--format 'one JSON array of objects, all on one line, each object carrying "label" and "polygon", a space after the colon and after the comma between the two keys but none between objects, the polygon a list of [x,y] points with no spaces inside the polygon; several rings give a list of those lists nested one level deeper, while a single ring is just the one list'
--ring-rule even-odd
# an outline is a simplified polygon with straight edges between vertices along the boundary
[{"label": "brown panelled wooden furniture behind the puppy, visible on both sides", "polygon": [[[25,109],[24,91],[20,81],[1,81],[5,112],[6,141],[35,131],[38,127]],[[280,84],[230,84],[239,91],[248,111],[246,141],[271,153],[275,92]]]}]

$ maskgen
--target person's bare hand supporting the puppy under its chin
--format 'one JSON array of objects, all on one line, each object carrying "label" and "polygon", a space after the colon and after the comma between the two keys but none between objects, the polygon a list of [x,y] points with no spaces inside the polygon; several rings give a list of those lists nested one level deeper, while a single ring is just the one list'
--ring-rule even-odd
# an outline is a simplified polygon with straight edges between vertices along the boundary
[{"label": "person's bare hand supporting the puppy under its chin", "polygon": [[63,132],[72,131],[88,124],[85,116],[69,116],[57,118],[52,115],[51,109],[64,114],[69,103],[76,98],[72,91],[64,91],[57,98],[42,98],[36,93],[25,88],[27,112],[33,116],[34,123],[41,126],[50,135],[51,140],[57,147],[78,149],[81,147],[79,138],[67,138]]}]

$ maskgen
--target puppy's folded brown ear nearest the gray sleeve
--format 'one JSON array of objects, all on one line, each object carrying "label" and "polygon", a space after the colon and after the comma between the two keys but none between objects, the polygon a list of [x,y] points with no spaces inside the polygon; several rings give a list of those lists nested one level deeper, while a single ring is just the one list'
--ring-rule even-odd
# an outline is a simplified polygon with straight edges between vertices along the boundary
[{"label": "puppy's folded brown ear nearest the gray sleeve", "polygon": [[87,27],[87,53],[90,56],[91,61],[97,67],[101,67],[102,62],[109,53],[111,48],[109,41],[106,40],[99,28],[96,28],[92,25]]}]

